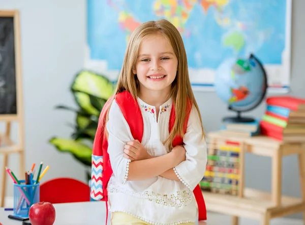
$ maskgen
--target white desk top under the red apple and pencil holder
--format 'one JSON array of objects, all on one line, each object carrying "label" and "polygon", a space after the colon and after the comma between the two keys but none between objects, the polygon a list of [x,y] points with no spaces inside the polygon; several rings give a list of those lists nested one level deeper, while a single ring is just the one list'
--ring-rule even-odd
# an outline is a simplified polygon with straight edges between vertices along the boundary
[{"label": "white desk top under the red apple and pencil holder", "polygon": [[[65,203],[54,204],[56,210],[56,219],[54,225],[92,225],[105,224],[106,205],[105,202],[83,202],[83,203]],[[3,225],[21,225],[22,221],[9,219],[8,215],[13,211],[4,211],[0,208],[0,222]],[[110,223],[108,214],[108,223]],[[200,225],[206,225],[205,222],[199,222]],[[198,224],[198,225],[199,225]]]}]

